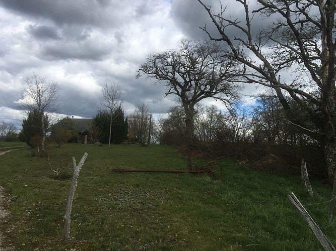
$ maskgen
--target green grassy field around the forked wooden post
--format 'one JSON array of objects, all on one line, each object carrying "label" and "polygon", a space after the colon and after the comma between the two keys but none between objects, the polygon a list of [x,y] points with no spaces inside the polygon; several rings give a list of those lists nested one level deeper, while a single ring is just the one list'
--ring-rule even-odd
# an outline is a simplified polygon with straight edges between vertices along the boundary
[{"label": "green grassy field around the forked wooden post", "polygon": [[232,159],[220,161],[223,177],[216,179],[111,171],[186,170],[186,159],[168,146],[72,144],[54,151],[77,163],[89,154],[78,178],[71,239],[62,235],[72,167],[56,176],[44,159],[22,149],[0,157],[0,185],[11,199],[0,230],[15,250],[322,250],[290,192],[336,245],[336,223],[327,221],[331,189],[319,182],[310,198],[300,177],[255,172]]}]

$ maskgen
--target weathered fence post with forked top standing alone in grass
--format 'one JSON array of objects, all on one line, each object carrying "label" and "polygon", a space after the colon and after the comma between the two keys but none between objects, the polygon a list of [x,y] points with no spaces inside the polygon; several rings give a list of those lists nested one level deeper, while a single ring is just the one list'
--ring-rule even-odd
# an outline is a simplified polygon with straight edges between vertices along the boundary
[{"label": "weathered fence post with forked top standing alone in grass", "polygon": [[75,190],[77,186],[77,178],[79,175],[79,171],[81,170],[86,158],[88,157],[88,153],[85,153],[78,164],[76,165],[76,160],[74,157],[73,163],[74,163],[74,174],[73,174],[73,180],[70,185],[70,191],[68,195],[68,201],[66,201],[66,208],[65,208],[65,215],[64,215],[64,238],[69,239],[70,238],[70,216],[71,216],[71,208],[73,206],[73,200],[75,196]]}]

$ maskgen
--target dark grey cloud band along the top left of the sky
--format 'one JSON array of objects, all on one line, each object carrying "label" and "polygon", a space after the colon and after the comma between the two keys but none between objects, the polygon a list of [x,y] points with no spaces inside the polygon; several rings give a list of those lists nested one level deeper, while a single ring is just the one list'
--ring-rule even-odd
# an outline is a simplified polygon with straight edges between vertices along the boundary
[{"label": "dark grey cloud band along the top left of the sky", "polygon": [[[80,25],[97,28],[119,28],[129,22],[150,15],[156,1],[133,0],[0,0],[0,6],[16,14],[39,21],[52,21],[56,26]],[[129,10],[125,18],[125,10]]]}]

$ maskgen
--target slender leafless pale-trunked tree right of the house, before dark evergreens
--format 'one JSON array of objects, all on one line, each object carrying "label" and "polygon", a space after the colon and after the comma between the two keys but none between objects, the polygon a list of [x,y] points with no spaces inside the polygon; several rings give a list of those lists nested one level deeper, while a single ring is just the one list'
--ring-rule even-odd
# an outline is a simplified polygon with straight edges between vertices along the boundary
[{"label": "slender leafless pale-trunked tree right of the house, before dark evergreens", "polygon": [[105,80],[105,84],[102,89],[103,97],[101,98],[101,105],[103,109],[106,109],[109,114],[110,119],[110,135],[108,138],[108,145],[111,146],[111,133],[112,133],[112,122],[113,122],[113,112],[121,104],[120,100],[120,88],[118,84],[114,83],[112,80],[108,83]]}]

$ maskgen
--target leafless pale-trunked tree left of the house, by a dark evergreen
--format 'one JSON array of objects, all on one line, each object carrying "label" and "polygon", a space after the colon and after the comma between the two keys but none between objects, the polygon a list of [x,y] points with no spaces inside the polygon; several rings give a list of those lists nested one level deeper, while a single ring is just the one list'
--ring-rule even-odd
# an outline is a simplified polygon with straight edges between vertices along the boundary
[{"label": "leafless pale-trunked tree left of the house, by a dark evergreen", "polygon": [[45,139],[47,128],[45,119],[50,119],[53,113],[59,109],[59,92],[60,87],[57,82],[48,81],[46,77],[33,74],[31,77],[26,77],[24,80],[24,88],[22,99],[20,100],[19,107],[25,111],[33,113],[37,111],[36,117],[39,124],[38,131],[41,132],[41,154],[45,150]]}]

